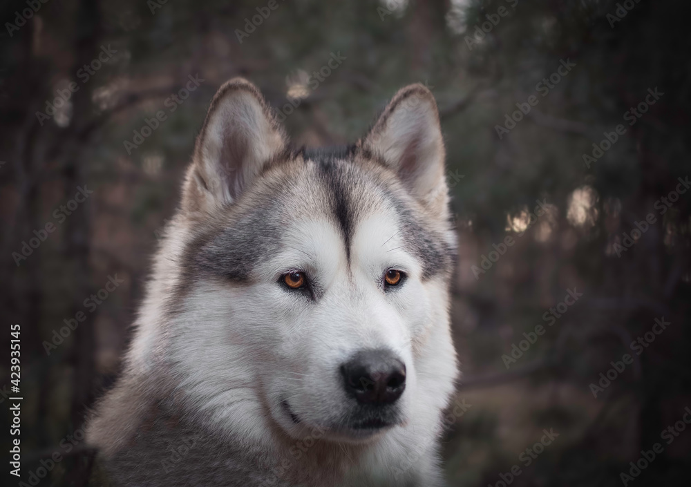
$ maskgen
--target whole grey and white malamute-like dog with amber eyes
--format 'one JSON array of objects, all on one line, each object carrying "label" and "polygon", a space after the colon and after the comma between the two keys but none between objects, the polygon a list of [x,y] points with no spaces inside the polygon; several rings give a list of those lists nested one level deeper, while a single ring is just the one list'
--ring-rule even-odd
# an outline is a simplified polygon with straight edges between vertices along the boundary
[{"label": "whole grey and white malamute-like dog with amber eyes", "polygon": [[88,421],[115,485],[444,485],[444,159],[420,84],[338,149],[292,149],[258,88],[224,84]]}]

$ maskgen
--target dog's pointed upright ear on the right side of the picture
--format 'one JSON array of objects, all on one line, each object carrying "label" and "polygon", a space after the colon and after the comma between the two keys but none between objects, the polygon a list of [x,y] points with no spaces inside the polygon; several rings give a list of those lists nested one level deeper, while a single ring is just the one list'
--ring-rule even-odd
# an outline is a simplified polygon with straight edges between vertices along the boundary
[{"label": "dog's pointed upright ear on the right side of the picture", "polygon": [[382,157],[421,202],[446,204],[442,128],[437,103],[425,86],[399,90],[360,144]]}]

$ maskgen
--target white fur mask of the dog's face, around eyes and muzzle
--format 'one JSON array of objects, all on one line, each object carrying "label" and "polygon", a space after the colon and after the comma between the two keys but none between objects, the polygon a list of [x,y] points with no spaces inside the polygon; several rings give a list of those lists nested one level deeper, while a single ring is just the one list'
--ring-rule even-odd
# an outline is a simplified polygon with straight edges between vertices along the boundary
[{"label": "white fur mask of the dog's face, around eyes and muzzle", "polygon": [[[211,430],[266,451],[274,450],[272,421],[294,439],[326,430],[333,441],[375,441],[353,472],[359,482],[433,471],[440,414],[457,375],[448,302],[444,283],[422,282],[420,262],[406,250],[395,221],[392,213],[377,213],[359,222],[352,281],[338,229],[327,220],[306,220],[285,229],[285,247],[263,262],[256,285],[202,283],[194,289],[187,312],[169,324],[175,330],[171,358],[180,367],[181,390],[209,413]],[[377,283],[390,267],[406,271],[408,280],[384,294]],[[290,269],[323,278],[319,303],[281,289],[276,281]],[[144,355],[133,352],[133,359],[145,362],[155,339],[140,333],[133,351]],[[375,439],[330,430],[345,412],[345,392],[335,380],[339,365],[358,350],[378,347],[406,363],[403,423]],[[284,397],[302,423],[295,425],[281,409]]]}]

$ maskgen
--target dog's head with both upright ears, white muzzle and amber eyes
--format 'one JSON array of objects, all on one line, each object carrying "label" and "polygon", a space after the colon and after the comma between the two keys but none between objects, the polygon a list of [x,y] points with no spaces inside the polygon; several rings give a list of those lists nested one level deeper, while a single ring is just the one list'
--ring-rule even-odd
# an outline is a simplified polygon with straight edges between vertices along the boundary
[{"label": "dog's head with both upright ears, white muzzle and amber eyes", "polygon": [[182,390],[235,430],[366,441],[408,421],[434,380],[417,359],[447,325],[447,211],[426,88],[349,149],[291,152],[256,88],[229,82],[184,188],[168,318]]}]

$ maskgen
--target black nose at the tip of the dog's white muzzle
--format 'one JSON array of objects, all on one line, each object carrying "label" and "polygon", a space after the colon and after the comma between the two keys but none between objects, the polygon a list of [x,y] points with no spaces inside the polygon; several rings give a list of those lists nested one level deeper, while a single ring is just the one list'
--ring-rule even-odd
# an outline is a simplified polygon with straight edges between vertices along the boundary
[{"label": "black nose at the tip of the dog's white muzzle", "polygon": [[388,350],[362,350],[341,365],[345,391],[362,404],[386,405],[406,389],[406,365]]}]

